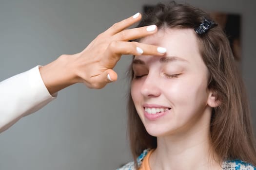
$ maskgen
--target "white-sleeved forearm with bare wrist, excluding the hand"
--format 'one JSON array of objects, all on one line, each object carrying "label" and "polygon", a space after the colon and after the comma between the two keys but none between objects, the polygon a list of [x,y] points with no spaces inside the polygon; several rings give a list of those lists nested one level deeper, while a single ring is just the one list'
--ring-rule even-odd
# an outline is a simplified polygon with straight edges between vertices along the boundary
[{"label": "white-sleeved forearm with bare wrist, excluding the hand", "polygon": [[76,54],[61,55],[46,66],[0,82],[0,132],[54,100],[59,90],[77,83],[75,58]]}]

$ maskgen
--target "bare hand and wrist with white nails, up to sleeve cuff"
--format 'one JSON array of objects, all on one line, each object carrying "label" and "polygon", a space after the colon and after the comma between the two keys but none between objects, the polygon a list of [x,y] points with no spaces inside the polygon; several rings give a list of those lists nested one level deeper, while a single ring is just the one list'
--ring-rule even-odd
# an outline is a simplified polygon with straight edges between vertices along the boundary
[{"label": "bare hand and wrist with white nails, up to sleeve cuff", "polygon": [[[157,46],[129,42],[157,32],[155,25],[126,29],[138,22],[141,15],[126,18],[99,34],[83,51],[61,55],[54,62],[39,68],[43,82],[51,94],[75,83],[89,88],[103,88],[117,80],[113,70],[122,54],[163,55]],[[162,50],[162,49],[161,49]]]}]

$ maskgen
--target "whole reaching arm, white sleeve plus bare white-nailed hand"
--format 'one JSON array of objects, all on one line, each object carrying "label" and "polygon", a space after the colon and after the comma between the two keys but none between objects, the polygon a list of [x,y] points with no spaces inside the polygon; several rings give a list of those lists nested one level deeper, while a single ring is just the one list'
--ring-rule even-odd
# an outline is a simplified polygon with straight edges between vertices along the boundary
[{"label": "whole reaching arm, white sleeve plus bare white-nailed hand", "polygon": [[[99,34],[83,51],[74,55],[61,55],[46,66],[35,67],[0,82],[0,132],[8,129],[20,118],[36,112],[56,97],[54,93],[76,83],[89,88],[103,88],[118,79],[113,70],[122,54],[163,55],[156,46],[128,42],[157,32],[156,26],[127,30],[138,22],[140,14],[124,19]],[[163,50],[163,51],[162,51]],[[158,52],[159,51],[159,52]],[[39,73],[41,77],[39,76]],[[44,85],[48,89],[45,89]]]}]

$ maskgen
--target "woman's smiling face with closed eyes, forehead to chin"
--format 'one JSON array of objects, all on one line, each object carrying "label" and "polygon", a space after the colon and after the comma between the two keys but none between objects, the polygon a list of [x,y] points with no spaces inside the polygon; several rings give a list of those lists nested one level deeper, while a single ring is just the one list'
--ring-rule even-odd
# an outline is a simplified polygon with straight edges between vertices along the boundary
[{"label": "woman's smiling face with closed eyes, forehead to chin", "polygon": [[152,136],[168,136],[210,123],[208,70],[192,29],[162,29],[140,42],[167,49],[163,56],[135,56],[131,95]]}]

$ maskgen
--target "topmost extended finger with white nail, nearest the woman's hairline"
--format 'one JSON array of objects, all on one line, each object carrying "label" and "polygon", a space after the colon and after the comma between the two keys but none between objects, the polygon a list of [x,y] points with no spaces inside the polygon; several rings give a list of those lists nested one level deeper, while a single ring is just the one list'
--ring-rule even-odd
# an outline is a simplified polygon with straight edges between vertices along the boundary
[{"label": "topmost extended finger with white nail, nearest the woman's hairline", "polygon": [[133,15],[132,17],[128,17],[124,20],[121,20],[115,24],[113,24],[109,29],[107,29],[105,31],[106,34],[117,34],[120,31],[123,31],[124,29],[132,26],[133,24],[135,24],[136,22],[138,22],[141,19],[141,14],[137,13],[135,15]]}]

